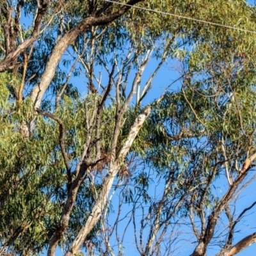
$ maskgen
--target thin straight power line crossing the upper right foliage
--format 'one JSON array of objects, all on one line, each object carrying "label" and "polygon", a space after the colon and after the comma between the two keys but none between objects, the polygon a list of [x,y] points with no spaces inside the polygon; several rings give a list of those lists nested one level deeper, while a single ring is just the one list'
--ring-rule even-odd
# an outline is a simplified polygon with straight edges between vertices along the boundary
[{"label": "thin straight power line crossing the upper right foliage", "polygon": [[236,28],[236,27],[232,27],[232,26],[228,26],[228,25],[223,25],[223,24],[211,22],[211,21],[200,20],[200,19],[194,19],[194,18],[190,18],[190,17],[186,17],[186,16],[182,16],[182,15],[177,15],[177,14],[173,14],[173,13],[168,13],[168,12],[161,12],[161,11],[157,11],[157,10],[152,10],[152,9],[149,9],[149,8],[144,8],[144,7],[140,7],[140,6],[136,6],[136,5],[119,3],[119,2],[116,2],[116,1],[112,1],[112,0],[104,0],[104,1],[109,2],[109,3],[115,3],[115,4],[125,5],[125,6],[131,6],[132,8],[137,8],[137,9],[145,10],[145,11],[149,11],[149,12],[155,12],[155,13],[161,13],[161,14],[164,14],[164,15],[170,15],[170,16],[177,17],[177,18],[180,18],[180,19],[194,20],[194,21],[196,21],[196,22],[202,22],[202,23],[205,23],[205,24],[210,24],[210,25],[212,25],[212,26],[219,26],[219,27],[223,27],[223,28],[236,29],[236,30],[239,30],[239,31],[244,31],[244,32],[247,32],[247,33],[256,34],[256,31],[247,30],[247,29],[243,29],[243,28]]}]

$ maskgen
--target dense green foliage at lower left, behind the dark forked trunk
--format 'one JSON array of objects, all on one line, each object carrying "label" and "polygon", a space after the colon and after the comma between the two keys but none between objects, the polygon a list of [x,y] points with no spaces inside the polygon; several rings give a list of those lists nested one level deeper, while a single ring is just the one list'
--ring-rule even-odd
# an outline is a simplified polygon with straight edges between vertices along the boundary
[{"label": "dense green foliage at lower left, behind the dark forked trunk", "polygon": [[[4,93],[7,96],[8,90],[3,90],[2,95]],[[91,96],[88,95],[86,100],[65,96],[56,109],[55,115],[60,116],[65,125],[65,144],[72,170],[81,155],[86,136],[84,103],[88,116],[92,115],[95,99]],[[29,98],[22,102],[21,108],[11,104],[8,97],[3,100],[3,113],[9,114],[1,116],[3,125],[0,132],[1,244],[9,243],[15,237],[9,246],[11,252],[33,252],[36,255],[52,236],[67,195],[66,170],[58,143],[59,127],[54,120],[36,115]],[[111,106],[103,109],[100,147],[106,152],[114,125],[113,119],[109,117],[114,115],[115,109]],[[22,138],[19,133],[20,122],[28,122],[35,116],[32,136]],[[65,242],[61,241],[63,246],[72,242],[90,213],[94,203],[90,179],[89,175],[79,188]],[[100,191],[100,184],[96,186]],[[95,244],[98,243],[96,234],[99,228],[99,225],[95,226],[92,236],[88,237]]]}]

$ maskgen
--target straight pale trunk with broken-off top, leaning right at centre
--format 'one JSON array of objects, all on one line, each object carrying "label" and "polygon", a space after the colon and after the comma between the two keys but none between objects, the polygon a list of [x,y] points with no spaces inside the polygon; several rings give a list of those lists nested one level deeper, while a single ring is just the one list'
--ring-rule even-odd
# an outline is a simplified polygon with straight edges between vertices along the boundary
[{"label": "straight pale trunk with broken-off top, leaning right at centre", "polygon": [[134,124],[131,127],[127,140],[125,141],[125,144],[122,147],[122,150],[120,151],[118,158],[115,162],[111,164],[111,166],[109,166],[108,175],[104,179],[104,182],[102,184],[102,190],[100,191],[100,195],[98,196],[95,205],[93,206],[92,212],[90,213],[88,219],[79,231],[79,234],[71,244],[65,256],[75,255],[79,251],[81,245],[84,243],[84,239],[86,239],[86,236],[88,236],[92,228],[99,220],[100,215],[102,214],[102,211],[106,206],[109,191],[111,190],[113,181],[118,171],[122,168],[124,158],[127,156],[127,153],[129,152],[129,149],[131,148],[134,139],[136,138],[138,132],[140,131],[141,125],[143,125],[149,114],[150,107],[147,107],[145,111],[136,118]]}]

